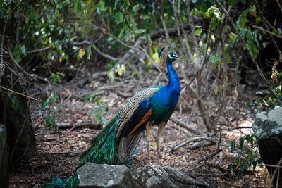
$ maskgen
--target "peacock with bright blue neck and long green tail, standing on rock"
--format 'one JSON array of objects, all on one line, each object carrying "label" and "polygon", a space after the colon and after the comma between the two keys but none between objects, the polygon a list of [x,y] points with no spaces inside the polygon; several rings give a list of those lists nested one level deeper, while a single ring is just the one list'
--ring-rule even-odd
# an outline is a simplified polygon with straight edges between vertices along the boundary
[{"label": "peacock with bright blue neck and long green tail, standing on rock", "polygon": [[[154,168],[149,153],[149,132],[152,125],[158,126],[156,165],[159,165],[161,135],[180,96],[180,81],[172,65],[177,58],[179,57],[174,52],[166,56],[168,84],[142,89],[129,99],[121,111],[92,139],[87,151],[80,157],[77,168],[87,162],[124,164],[135,152],[144,130],[146,130],[149,165]],[[75,173],[68,180],[56,178],[45,184],[45,187],[74,188],[78,187],[78,184],[78,176]]]}]

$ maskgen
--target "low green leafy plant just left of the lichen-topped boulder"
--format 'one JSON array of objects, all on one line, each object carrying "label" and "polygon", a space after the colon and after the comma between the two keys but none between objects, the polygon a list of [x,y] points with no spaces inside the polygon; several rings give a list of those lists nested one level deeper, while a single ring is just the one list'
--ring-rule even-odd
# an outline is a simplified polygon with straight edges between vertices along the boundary
[{"label": "low green leafy plant just left of the lichen-topped boulder", "polygon": [[[238,144],[237,147],[236,143]],[[233,168],[235,168],[239,177],[246,175],[250,170],[254,171],[257,165],[262,166],[262,159],[259,157],[254,134],[248,134],[238,140],[233,140],[230,149],[232,153],[235,153]]]}]

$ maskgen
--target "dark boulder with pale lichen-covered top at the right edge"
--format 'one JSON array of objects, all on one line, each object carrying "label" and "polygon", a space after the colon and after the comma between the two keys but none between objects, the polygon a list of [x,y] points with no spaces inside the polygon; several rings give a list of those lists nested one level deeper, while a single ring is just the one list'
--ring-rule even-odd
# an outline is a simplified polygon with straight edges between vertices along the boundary
[{"label": "dark boulder with pale lichen-covered top at the right edge", "polygon": [[276,183],[278,187],[282,187],[282,169],[276,168],[276,165],[282,165],[282,108],[277,107],[269,112],[257,113],[252,130],[257,138],[262,161],[273,179],[274,187]]}]

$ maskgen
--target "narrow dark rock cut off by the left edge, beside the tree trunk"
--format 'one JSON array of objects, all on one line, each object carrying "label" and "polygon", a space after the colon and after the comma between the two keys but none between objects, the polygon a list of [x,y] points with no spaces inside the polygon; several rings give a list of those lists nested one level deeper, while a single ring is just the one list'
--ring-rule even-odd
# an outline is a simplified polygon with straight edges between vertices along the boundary
[{"label": "narrow dark rock cut off by the left edge, beside the tree trunk", "polygon": [[0,182],[8,187],[8,150],[6,127],[0,123]]}]

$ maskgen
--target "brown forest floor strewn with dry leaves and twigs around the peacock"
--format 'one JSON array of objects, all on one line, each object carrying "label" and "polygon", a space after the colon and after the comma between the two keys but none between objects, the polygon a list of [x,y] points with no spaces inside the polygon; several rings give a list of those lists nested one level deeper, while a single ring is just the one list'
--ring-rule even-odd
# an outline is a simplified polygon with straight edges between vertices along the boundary
[{"label": "brown forest floor strewn with dry leaves and twigs around the peacock", "polygon": [[[105,78],[100,77],[92,80],[85,87],[79,88],[79,81],[79,78],[75,78],[71,82],[59,84],[54,91],[51,91],[59,95],[59,99],[49,104],[49,109],[54,111],[59,130],[51,130],[44,126],[47,111],[42,109],[42,104],[32,102],[30,105],[38,155],[29,159],[23,158],[17,166],[13,167],[10,187],[40,187],[53,177],[70,177],[78,163],[80,153],[87,149],[92,137],[103,127],[97,120],[111,120],[134,92],[152,84],[144,80],[142,82],[126,80],[110,84],[105,82]],[[47,87],[47,85],[42,87]],[[209,156],[210,153],[219,149],[216,145],[193,149],[195,144],[201,144],[201,142],[192,142],[171,153],[172,146],[196,136],[169,120],[164,131],[164,142],[161,144],[161,165],[178,168],[193,177],[213,180],[218,187],[264,187],[261,168],[256,168],[255,171],[250,170],[241,177],[238,177],[236,172],[240,166],[234,162],[238,153],[232,153],[230,145],[233,140],[252,134],[250,126],[254,113],[247,110],[244,104],[246,101],[256,99],[256,91],[252,87],[241,85],[237,87],[237,90],[238,96],[233,96],[232,91],[229,92],[230,96],[226,99],[225,109],[228,117],[223,118],[219,124],[222,158],[219,158],[217,153],[212,158],[198,163],[200,158]],[[43,94],[38,95],[38,97],[41,96]],[[93,96],[96,96],[94,102],[92,101]],[[189,103],[195,106],[195,101],[190,100]],[[179,107],[176,108],[173,117],[195,128],[201,124],[198,113],[180,110]],[[152,139],[156,133],[157,127],[154,127],[151,134]],[[151,148],[154,159],[155,142],[152,142]],[[214,167],[213,164],[219,159],[222,160],[221,167]],[[146,162],[147,151],[144,146],[134,164],[142,166]]]}]

